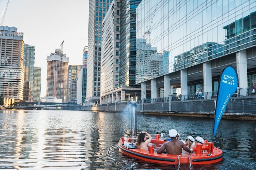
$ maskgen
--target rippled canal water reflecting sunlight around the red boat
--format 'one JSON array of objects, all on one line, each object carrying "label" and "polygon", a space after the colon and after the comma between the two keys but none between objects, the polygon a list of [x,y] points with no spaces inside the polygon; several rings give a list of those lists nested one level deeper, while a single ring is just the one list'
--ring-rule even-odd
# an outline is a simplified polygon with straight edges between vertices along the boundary
[{"label": "rippled canal water reflecting sunlight around the red boat", "polygon": [[[137,132],[152,136],[176,129],[188,135],[212,137],[213,119],[137,115]],[[220,121],[215,147],[223,160],[211,165],[164,166],[145,163],[118,152],[117,142],[130,136],[129,113],[66,110],[1,110],[0,169],[256,169],[256,122]]]}]

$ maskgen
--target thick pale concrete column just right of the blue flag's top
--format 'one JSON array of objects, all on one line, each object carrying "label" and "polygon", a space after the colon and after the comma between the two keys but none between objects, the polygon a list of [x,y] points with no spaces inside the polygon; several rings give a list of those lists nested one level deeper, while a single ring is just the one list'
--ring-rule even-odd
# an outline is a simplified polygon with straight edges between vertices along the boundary
[{"label": "thick pale concrete column just right of the blue flag's top", "polygon": [[238,75],[238,88],[246,88],[240,91],[240,96],[245,96],[248,88],[247,84],[247,58],[246,49],[236,53],[236,71]]}]

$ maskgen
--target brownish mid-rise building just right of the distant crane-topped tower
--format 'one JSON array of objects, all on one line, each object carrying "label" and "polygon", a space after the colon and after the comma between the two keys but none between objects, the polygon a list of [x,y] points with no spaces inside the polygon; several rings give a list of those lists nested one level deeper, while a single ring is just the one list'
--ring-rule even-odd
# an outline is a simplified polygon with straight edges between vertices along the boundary
[{"label": "brownish mid-rise building just right of the distant crane-topped tower", "polygon": [[82,68],[85,65],[69,65],[68,66],[68,90],[67,90],[67,102],[76,102],[77,91],[77,77]]}]

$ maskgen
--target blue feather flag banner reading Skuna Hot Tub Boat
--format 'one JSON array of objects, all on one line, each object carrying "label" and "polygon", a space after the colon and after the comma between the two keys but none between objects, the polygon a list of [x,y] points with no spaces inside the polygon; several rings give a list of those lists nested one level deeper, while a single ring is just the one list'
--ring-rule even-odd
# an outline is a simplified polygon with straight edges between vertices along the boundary
[{"label": "blue feather flag banner reading Skuna Hot Tub Boat", "polygon": [[228,65],[222,70],[220,75],[212,138],[215,135],[215,132],[220,123],[220,119],[223,115],[223,112],[225,111],[229,99],[234,94],[234,92],[236,92],[237,86],[238,76],[236,69],[232,65]]}]

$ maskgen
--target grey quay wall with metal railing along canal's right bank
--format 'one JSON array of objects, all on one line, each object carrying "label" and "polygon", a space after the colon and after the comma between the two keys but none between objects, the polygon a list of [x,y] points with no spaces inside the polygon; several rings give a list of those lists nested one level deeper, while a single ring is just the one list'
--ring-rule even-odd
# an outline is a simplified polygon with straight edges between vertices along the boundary
[{"label": "grey quay wall with metal railing along canal's right bank", "polygon": [[[155,99],[137,100],[137,112],[143,114],[186,115],[214,117],[217,92],[196,94],[169,95]],[[122,112],[129,111],[129,101],[83,106],[79,110]],[[256,95],[252,87],[237,89],[228,102],[223,117],[230,119],[256,120]]]}]

